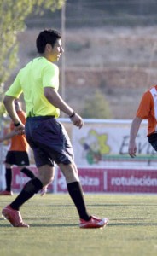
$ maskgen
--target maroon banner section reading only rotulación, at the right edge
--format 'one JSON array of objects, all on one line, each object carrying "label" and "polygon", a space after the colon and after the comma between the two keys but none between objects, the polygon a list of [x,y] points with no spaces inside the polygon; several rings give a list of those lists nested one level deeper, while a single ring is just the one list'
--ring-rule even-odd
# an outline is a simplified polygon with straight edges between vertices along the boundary
[{"label": "maroon banner section reading only rotulaci\u00f3n, at the right edge", "polygon": [[157,170],[104,170],[104,191],[157,193]]}]

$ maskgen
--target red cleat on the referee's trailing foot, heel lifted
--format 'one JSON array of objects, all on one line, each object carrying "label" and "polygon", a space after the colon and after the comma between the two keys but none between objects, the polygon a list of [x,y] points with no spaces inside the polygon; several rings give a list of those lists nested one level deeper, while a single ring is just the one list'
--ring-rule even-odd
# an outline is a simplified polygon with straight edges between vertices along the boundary
[{"label": "red cleat on the referee's trailing foot, heel lifted", "polygon": [[7,218],[14,227],[29,228],[29,225],[23,222],[19,211],[12,209],[10,206],[3,208],[3,217]]}]

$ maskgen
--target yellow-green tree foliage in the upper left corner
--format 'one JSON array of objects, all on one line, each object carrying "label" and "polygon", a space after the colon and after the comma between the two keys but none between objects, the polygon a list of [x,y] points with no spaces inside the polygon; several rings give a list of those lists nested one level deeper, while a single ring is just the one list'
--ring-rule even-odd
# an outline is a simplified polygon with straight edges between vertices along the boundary
[{"label": "yellow-green tree foliage in the upper left corner", "polygon": [[[65,0],[0,0],[0,100],[4,83],[18,61],[17,33],[25,29],[26,17],[32,13],[43,15],[45,9],[53,12],[64,3]],[[0,112],[3,112],[3,105]]]}]

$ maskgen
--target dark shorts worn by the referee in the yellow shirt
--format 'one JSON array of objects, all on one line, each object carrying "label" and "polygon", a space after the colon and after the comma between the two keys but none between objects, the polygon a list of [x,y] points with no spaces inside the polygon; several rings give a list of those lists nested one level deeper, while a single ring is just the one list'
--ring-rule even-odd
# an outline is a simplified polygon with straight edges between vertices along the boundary
[{"label": "dark shorts worn by the referee in the yellow shirt", "polygon": [[25,132],[37,167],[73,162],[73,148],[67,131],[55,118],[27,118]]}]

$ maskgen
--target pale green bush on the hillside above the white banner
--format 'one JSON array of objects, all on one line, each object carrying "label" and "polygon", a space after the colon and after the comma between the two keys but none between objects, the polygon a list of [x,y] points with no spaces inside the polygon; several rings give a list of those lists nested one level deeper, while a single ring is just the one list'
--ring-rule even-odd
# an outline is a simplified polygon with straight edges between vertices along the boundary
[{"label": "pale green bush on the hillside above the white banner", "polygon": [[86,119],[111,119],[112,113],[108,101],[100,90],[85,101],[82,116]]}]

